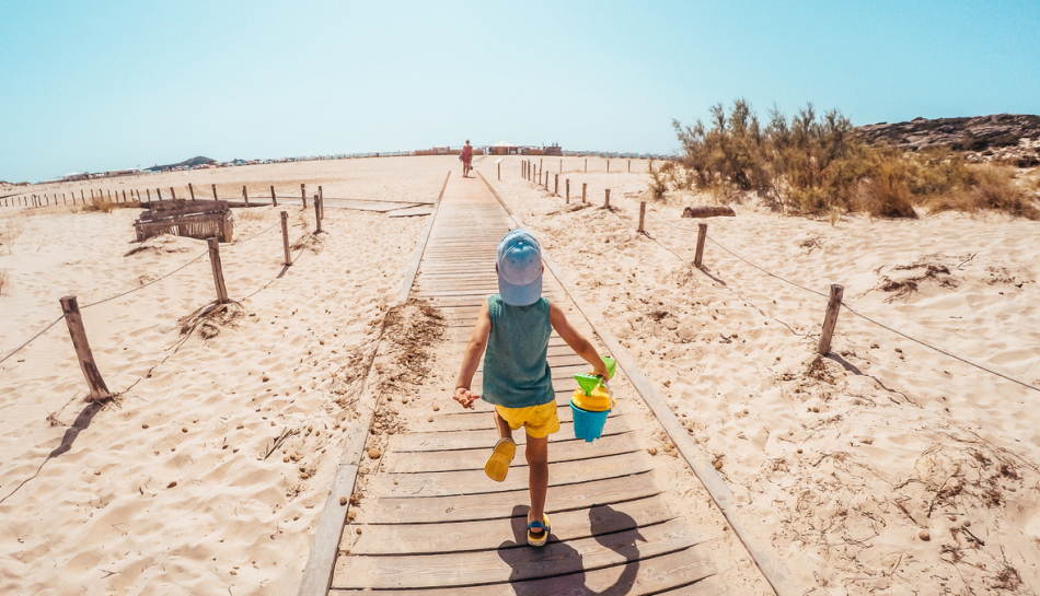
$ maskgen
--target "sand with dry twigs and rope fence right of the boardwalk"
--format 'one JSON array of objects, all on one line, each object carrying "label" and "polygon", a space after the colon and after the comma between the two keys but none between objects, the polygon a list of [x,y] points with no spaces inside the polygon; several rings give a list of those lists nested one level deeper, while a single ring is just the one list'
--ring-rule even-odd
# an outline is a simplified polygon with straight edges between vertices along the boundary
[{"label": "sand with dry twigs and rope fence right of the boardwalk", "polygon": [[[707,271],[692,268],[697,220],[680,213],[696,198],[651,201],[640,236],[645,176],[565,160],[571,204],[585,183],[597,206],[611,188],[617,207],[571,211],[502,165],[499,194],[723,461],[743,522],[806,593],[1040,586],[1040,394],[847,313],[836,357],[819,360],[825,297],[710,242]],[[943,213],[831,226],[736,209],[708,221],[730,250],[824,295],[842,283],[858,312],[1040,386],[1036,222]]]}]

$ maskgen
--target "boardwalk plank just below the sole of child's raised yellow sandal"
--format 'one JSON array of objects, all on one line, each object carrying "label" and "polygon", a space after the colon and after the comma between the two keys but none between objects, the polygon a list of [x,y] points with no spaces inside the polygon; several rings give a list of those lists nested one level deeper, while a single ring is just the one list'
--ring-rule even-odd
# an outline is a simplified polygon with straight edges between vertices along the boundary
[{"label": "boardwalk plank just below the sole of child's raised yellow sandal", "polygon": [[[651,469],[650,458],[644,453],[608,455],[579,461],[558,461],[548,465],[551,487],[620,478]],[[459,470],[432,474],[378,474],[369,490],[386,496],[416,496],[427,494],[479,494],[519,490],[528,487],[527,474],[510,474],[495,482],[479,470]]]}]

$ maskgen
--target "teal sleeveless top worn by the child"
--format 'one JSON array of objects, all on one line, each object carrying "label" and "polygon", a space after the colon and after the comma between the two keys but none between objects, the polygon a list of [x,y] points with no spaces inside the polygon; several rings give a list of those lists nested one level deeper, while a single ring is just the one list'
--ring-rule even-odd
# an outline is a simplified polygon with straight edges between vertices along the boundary
[{"label": "teal sleeveless top worn by the child", "polygon": [[548,350],[548,300],[511,306],[500,295],[487,299],[492,330],[484,352],[481,399],[506,408],[541,406],[556,399],[545,354]]}]

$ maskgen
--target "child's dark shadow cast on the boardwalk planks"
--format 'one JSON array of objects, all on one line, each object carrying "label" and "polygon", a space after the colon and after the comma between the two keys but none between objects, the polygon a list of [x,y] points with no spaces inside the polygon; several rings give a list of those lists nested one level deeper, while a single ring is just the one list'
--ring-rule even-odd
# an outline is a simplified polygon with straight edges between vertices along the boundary
[{"label": "child's dark shadow cast on the boardwalk planks", "polygon": [[[586,585],[581,554],[566,542],[550,535],[548,544],[541,548],[528,544],[528,507],[517,505],[512,510],[512,541],[498,547],[501,557],[511,569],[509,583],[517,596],[544,596],[545,594],[623,596],[632,591],[639,573],[639,548],[636,540],[644,540],[632,516],[613,510],[610,505],[596,505],[589,510],[593,539],[625,558],[621,576],[602,592]],[[518,548],[518,545],[522,545]]]}]

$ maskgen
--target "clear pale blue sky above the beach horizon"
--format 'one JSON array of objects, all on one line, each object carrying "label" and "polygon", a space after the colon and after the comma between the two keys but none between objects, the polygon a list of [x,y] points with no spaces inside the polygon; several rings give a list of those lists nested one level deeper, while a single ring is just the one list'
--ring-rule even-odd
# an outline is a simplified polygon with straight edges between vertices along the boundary
[{"label": "clear pale blue sky above the beach horizon", "polygon": [[738,97],[1040,113],[1040,2],[2,0],[0,179],[506,139],[671,152]]}]

